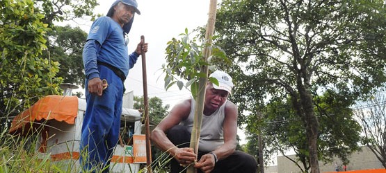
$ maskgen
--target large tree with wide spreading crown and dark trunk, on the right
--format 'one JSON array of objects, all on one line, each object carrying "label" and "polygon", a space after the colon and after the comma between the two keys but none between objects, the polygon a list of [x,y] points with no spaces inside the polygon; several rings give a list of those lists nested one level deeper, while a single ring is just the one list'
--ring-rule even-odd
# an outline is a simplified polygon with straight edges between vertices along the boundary
[{"label": "large tree with wide spreading crown and dark trunk, on the right", "polygon": [[224,0],[220,5],[216,40],[234,62],[234,100],[253,112],[266,100],[291,98],[305,129],[311,172],[320,172],[314,95],[330,90],[357,100],[386,81],[384,3]]}]

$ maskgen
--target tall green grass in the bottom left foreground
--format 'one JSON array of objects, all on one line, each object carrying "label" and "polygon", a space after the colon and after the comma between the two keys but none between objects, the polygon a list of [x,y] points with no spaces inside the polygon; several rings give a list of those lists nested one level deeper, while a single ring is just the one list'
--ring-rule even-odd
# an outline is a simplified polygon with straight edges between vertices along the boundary
[{"label": "tall green grass in the bottom left foreground", "polygon": [[[35,129],[35,133],[32,134],[38,134],[40,130]],[[79,169],[81,168],[75,166],[77,162],[79,163],[78,160],[54,162],[51,161],[49,154],[42,154],[36,151],[38,140],[40,139],[37,135],[26,137],[11,135],[7,128],[2,128],[0,134],[0,173],[80,172]],[[81,154],[83,157],[87,156],[84,152]],[[171,157],[166,152],[160,152],[159,150],[154,151],[154,154],[157,157],[152,161],[153,172],[168,172],[167,163]],[[111,163],[111,167],[115,165],[116,163]],[[103,169],[106,169],[106,167],[98,170]],[[139,172],[147,172],[145,164],[143,164],[143,168]]]}]

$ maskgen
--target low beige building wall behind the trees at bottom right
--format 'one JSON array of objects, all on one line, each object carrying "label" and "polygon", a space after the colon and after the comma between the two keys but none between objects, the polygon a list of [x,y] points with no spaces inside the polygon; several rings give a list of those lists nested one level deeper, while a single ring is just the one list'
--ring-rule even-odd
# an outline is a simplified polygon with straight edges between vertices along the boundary
[{"label": "low beige building wall behind the trees at bottom right", "polygon": [[[296,161],[295,155],[290,155],[289,158]],[[300,173],[300,169],[295,163],[286,158],[285,156],[278,156],[278,165],[266,167],[265,173]],[[355,152],[348,157],[350,163],[347,165],[347,171],[350,170],[370,170],[384,168],[382,163],[378,161],[378,158],[371,152],[368,147],[362,147],[362,151]],[[323,165],[323,162],[319,161],[319,169],[321,172],[333,172],[335,171],[335,163],[339,165],[339,171],[343,171],[342,161],[339,158],[335,158],[332,163]],[[303,164],[298,163],[303,168]]]}]

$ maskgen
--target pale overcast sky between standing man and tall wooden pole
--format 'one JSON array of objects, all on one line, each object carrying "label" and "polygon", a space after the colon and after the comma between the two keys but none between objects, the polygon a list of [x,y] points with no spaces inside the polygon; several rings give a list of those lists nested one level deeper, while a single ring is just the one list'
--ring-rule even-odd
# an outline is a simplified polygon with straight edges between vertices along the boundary
[{"label": "pale overcast sky between standing man and tall wooden pole", "polygon": [[[95,8],[95,14],[106,15],[114,1],[98,0],[99,6]],[[141,15],[136,14],[134,17],[134,23],[129,33],[129,52],[135,50],[136,45],[140,42],[140,36],[143,35],[145,42],[149,44],[146,53],[147,96],[148,98],[161,98],[163,104],[169,104],[171,108],[177,102],[190,98],[191,93],[186,89],[179,90],[177,86],[172,86],[168,91],[164,89],[163,78],[165,75],[161,71],[161,66],[166,63],[166,43],[173,37],[179,38],[179,34],[184,33],[185,28],[191,32],[198,26],[205,26],[208,20],[209,1],[137,0],[137,2]],[[76,26],[88,33],[91,24],[90,19],[84,19],[79,21]],[[143,95],[141,57],[138,58],[133,69],[129,71],[124,86],[126,91],[133,91],[134,95]],[[245,143],[243,140],[245,135],[240,129],[238,134],[242,139],[241,143]]]}]

